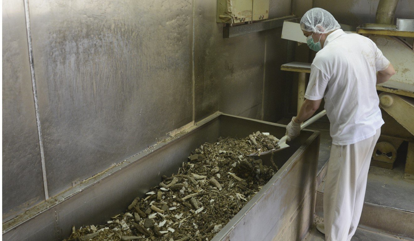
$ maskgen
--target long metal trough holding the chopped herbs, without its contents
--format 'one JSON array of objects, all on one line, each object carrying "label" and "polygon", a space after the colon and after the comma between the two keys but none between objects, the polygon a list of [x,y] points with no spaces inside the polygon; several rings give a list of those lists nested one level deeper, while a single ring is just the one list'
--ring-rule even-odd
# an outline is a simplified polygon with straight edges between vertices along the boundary
[{"label": "long metal trough holding the chopped herbs, without its contents", "polygon": [[[284,136],[286,127],[217,112],[167,143],[159,143],[57,197],[14,225],[3,224],[3,240],[57,240],[72,225],[100,224],[124,212],[136,196],[177,172],[189,153],[219,136],[245,137],[253,131]],[[313,222],[320,135],[303,130],[290,148],[274,155],[279,171],[214,237],[214,241],[301,240]],[[265,164],[269,157],[262,157]],[[32,210],[33,211],[33,210]],[[12,220],[13,221],[13,220]]]}]

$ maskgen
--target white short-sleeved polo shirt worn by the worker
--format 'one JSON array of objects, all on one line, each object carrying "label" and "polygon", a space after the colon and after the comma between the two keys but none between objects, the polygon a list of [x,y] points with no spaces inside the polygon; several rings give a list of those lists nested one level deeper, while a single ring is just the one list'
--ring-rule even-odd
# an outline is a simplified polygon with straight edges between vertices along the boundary
[{"label": "white short-sleeved polo shirt worn by the worker", "polygon": [[389,64],[369,38],[342,29],[327,36],[311,64],[305,98],[325,98],[332,144],[362,141],[384,124],[375,88],[376,71]]}]

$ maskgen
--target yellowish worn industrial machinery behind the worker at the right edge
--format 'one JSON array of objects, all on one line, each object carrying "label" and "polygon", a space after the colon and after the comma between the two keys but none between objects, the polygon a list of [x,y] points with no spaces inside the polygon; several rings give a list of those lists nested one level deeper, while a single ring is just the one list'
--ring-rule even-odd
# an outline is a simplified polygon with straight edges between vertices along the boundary
[{"label": "yellowish worn industrial machinery behind the worker at the right edge", "polygon": [[396,72],[389,81],[377,85],[385,125],[371,165],[392,169],[397,149],[408,141],[404,178],[414,179],[414,44],[406,41],[414,38],[414,19],[397,18],[394,25],[397,3],[380,1],[375,24],[363,24],[356,32],[371,38]]}]

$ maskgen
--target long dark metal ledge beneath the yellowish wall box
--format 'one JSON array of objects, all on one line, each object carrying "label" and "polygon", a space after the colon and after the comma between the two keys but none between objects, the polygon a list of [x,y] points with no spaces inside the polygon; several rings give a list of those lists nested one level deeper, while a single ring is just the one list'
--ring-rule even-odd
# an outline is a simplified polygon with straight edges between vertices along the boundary
[{"label": "long dark metal ledge beneath the yellowish wall box", "polygon": [[228,25],[223,27],[223,38],[233,38],[248,33],[255,33],[268,29],[275,29],[283,26],[285,20],[296,18],[295,15],[268,19],[248,24]]}]

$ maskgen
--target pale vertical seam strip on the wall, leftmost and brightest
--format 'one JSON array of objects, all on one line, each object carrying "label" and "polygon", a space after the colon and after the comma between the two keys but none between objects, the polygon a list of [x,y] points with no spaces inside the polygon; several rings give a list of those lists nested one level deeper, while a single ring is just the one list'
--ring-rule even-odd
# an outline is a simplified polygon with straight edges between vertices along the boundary
[{"label": "pale vertical seam strip on the wall, leftmost and brightest", "polygon": [[37,134],[39,136],[40,159],[42,163],[43,189],[45,191],[45,199],[48,200],[49,193],[48,193],[48,182],[46,179],[45,155],[43,151],[43,139],[42,139],[41,126],[40,126],[40,115],[39,115],[39,103],[38,103],[38,98],[37,98],[36,78],[34,76],[33,47],[31,44],[31,31],[30,31],[30,18],[29,18],[29,0],[24,0],[24,12],[25,12],[25,18],[26,18],[27,43],[29,47],[29,64],[30,64],[30,73],[31,73],[31,84],[33,88],[34,110],[36,112]]}]

